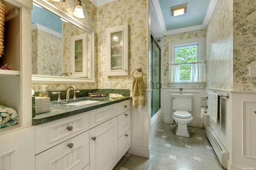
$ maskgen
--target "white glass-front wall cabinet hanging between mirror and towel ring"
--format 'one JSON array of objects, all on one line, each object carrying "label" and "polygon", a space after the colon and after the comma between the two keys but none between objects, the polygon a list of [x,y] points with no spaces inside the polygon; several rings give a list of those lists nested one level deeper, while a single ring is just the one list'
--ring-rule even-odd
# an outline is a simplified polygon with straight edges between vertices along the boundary
[{"label": "white glass-front wall cabinet hanging between mirror and towel ring", "polygon": [[107,75],[128,75],[128,24],[106,29]]}]

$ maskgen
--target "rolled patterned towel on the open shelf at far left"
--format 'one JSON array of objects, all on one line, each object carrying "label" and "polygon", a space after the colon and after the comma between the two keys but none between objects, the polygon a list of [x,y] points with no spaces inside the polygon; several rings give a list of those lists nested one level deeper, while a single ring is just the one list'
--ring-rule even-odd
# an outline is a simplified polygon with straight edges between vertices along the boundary
[{"label": "rolled patterned towel on the open shelf at far left", "polygon": [[18,123],[18,114],[10,107],[0,105],[0,117],[0,128]]}]

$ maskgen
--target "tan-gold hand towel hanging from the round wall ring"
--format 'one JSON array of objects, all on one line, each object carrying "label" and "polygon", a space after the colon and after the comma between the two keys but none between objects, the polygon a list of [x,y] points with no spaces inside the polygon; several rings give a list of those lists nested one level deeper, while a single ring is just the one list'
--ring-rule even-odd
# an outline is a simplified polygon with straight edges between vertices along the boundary
[{"label": "tan-gold hand towel hanging from the round wall ring", "polygon": [[144,82],[142,77],[134,77],[132,81],[132,107],[139,108],[146,106],[144,97]]}]

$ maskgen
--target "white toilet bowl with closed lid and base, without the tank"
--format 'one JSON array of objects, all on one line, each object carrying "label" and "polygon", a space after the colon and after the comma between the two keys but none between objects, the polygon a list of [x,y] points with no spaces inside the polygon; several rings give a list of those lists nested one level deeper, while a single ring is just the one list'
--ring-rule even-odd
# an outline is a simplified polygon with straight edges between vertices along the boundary
[{"label": "white toilet bowl with closed lid and base, without the tank", "polygon": [[187,124],[193,120],[192,115],[187,111],[175,111],[172,118],[178,123],[178,126],[176,127],[176,135],[190,137]]}]

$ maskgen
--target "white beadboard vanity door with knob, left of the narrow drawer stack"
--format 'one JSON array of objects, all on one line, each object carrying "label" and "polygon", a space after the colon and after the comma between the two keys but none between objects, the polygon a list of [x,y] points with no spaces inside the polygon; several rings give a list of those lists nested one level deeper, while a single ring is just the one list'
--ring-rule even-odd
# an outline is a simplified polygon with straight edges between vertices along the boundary
[{"label": "white beadboard vanity door with knob, left of the narrow drawer stack", "polygon": [[117,117],[90,129],[90,170],[112,170],[118,163]]}]

